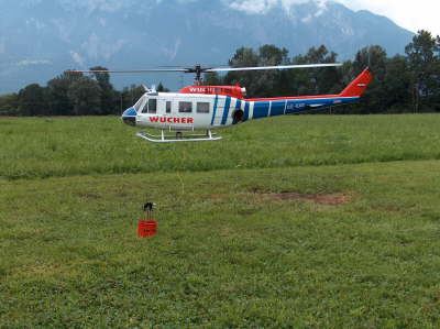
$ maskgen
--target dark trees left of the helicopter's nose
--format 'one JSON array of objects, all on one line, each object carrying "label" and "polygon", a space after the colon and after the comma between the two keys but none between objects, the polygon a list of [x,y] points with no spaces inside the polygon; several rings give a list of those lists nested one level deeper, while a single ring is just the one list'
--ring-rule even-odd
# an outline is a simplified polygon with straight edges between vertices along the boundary
[{"label": "dark trees left of the helicopter's nose", "polygon": [[[90,70],[106,70],[101,66]],[[158,91],[167,91],[160,84]],[[64,72],[46,87],[28,85],[18,94],[0,96],[0,116],[108,116],[120,114],[145,92],[143,86],[132,85],[116,90],[108,73]]]}]

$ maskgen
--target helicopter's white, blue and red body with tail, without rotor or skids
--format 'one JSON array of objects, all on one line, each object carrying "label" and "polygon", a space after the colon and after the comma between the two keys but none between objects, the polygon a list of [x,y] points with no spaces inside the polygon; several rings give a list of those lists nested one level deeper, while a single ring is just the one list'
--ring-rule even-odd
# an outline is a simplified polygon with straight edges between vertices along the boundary
[{"label": "helicopter's white, blue and red body with tail, without rotor or skids", "polygon": [[122,120],[131,125],[162,130],[162,135],[164,131],[210,131],[253,119],[352,103],[360,99],[371,79],[370,70],[365,69],[338,95],[301,97],[245,99],[245,89],[240,86],[190,86],[179,92],[147,91],[123,112]]}]

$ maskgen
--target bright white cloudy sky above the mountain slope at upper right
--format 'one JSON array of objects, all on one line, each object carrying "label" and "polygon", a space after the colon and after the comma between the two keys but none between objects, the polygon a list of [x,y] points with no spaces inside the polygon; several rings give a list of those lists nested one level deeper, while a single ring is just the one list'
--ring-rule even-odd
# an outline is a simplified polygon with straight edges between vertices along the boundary
[{"label": "bright white cloudy sky above the mountain slope at upper right", "polygon": [[337,0],[346,7],[360,10],[366,9],[374,13],[391,18],[398,25],[417,32],[428,30],[440,34],[440,1],[439,0]]}]

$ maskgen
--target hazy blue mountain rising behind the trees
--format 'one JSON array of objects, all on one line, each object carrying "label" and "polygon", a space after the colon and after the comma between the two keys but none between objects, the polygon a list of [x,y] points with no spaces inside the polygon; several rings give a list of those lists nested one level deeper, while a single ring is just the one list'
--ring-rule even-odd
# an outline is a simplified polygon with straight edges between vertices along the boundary
[{"label": "hazy blue mountain rising behind the trees", "polygon": [[[322,0],[0,0],[0,95],[45,84],[68,68],[227,64],[241,46],[275,44],[290,55],[324,44],[339,59],[413,37],[385,17]],[[256,7],[255,7],[256,6]],[[113,76],[118,88],[176,75]],[[191,77],[185,77],[189,83]]]}]

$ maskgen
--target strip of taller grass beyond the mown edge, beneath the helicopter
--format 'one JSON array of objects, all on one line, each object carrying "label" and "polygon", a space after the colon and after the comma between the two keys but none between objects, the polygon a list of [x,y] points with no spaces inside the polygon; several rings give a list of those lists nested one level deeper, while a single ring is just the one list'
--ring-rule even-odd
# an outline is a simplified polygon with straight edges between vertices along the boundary
[{"label": "strip of taller grass beyond the mown edge, beneath the helicopter", "polygon": [[440,116],[288,116],[152,145],[119,118],[0,119],[0,177],[272,168],[440,158]]}]

